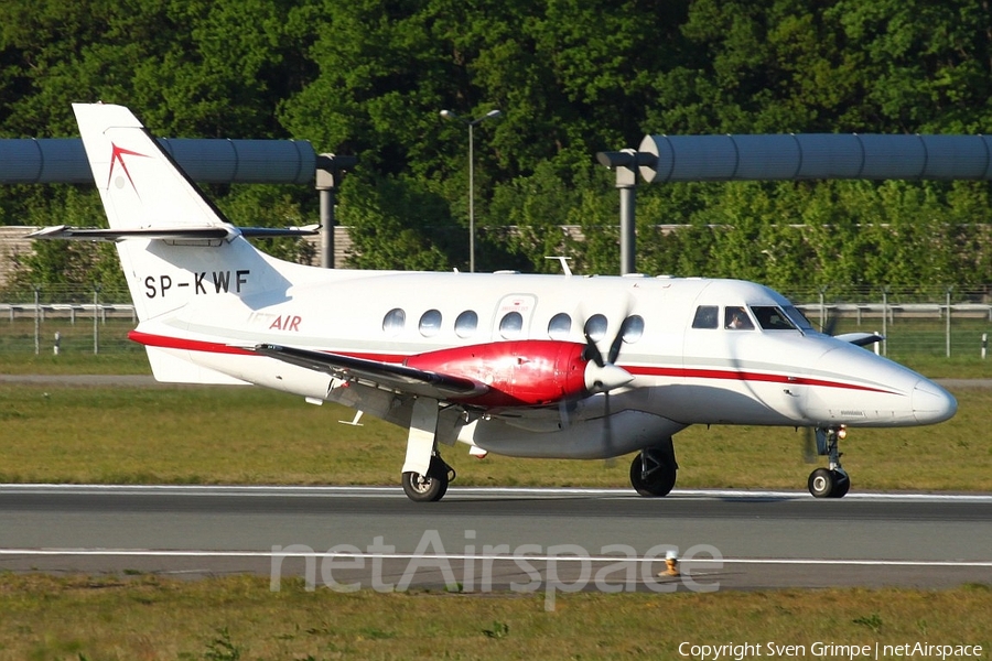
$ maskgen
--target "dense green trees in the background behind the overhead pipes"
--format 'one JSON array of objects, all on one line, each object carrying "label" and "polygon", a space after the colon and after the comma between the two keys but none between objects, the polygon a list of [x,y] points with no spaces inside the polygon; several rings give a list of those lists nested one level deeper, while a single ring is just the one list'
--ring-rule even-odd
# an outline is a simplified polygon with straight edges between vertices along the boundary
[{"label": "dense green trees in the background behind the overhead pipes", "polygon": [[[157,134],[294,138],[355,154],[338,221],[360,268],[618,270],[595,164],[645,133],[982,133],[985,0],[9,0],[0,137],[73,137],[73,101]],[[312,223],[305,186],[212,186],[242,225]],[[796,285],[992,282],[986,182],[666,184],[637,192],[639,271]],[[0,224],[97,225],[88,187],[8,186]],[[579,226],[576,241],[562,226]],[[661,231],[659,226],[678,226]],[[513,231],[509,230],[513,228]],[[21,282],[119,279],[112,250],[39,243]],[[291,241],[267,250],[299,259]]]}]

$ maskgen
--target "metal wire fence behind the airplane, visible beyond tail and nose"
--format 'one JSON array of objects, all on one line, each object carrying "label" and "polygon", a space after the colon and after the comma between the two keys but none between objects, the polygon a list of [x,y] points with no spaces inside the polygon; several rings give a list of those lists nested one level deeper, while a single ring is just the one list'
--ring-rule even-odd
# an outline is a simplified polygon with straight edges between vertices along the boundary
[{"label": "metal wire fence behind the airplane, visible beyond tail and nose", "polygon": [[[878,333],[878,351],[984,358],[992,332],[992,285],[982,288],[819,288],[783,292],[813,326],[839,334]],[[127,291],[36,288],[0,294],[0,351],[136,353]]]}]

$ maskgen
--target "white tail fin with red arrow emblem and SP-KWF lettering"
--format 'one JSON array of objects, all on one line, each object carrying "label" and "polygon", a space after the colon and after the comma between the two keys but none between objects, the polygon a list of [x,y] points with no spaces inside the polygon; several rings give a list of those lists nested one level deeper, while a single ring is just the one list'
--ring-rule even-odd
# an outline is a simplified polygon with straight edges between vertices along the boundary
[{"label": "white tail fin with red arrow emblem and SP-KWF lettering", "polygon": [[130,110],[104,104],[73,110],[110,224],[95,234],[119,241],[141,322],[206,296],[245,297],[285,285],[276,260],[227,223]]}]

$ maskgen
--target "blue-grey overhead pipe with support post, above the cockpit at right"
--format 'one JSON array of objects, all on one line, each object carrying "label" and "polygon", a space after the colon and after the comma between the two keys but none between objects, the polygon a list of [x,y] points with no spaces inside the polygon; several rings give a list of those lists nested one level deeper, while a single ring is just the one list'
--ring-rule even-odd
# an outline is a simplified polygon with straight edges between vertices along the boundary
[{"label": "blue-grey overhead pipe with support post, above the cockpit at right", "polygon": [[786,180],[992,180],[992,136],[779,133],[645,136],[600,152],[621,191],[621,273],[635,272],[635,188],[645,183]]}]

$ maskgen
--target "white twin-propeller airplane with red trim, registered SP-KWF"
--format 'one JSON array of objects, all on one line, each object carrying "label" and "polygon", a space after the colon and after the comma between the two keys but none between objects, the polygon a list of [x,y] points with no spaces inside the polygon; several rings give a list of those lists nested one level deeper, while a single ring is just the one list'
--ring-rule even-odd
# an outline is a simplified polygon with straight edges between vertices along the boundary
[{"label": "white twin-propeller airplane with red trim, registered SP-KWF", "polygon": [[[780,294],[737,280],[327,270],[283,262],[207,201],[125,107],[74,105],[109,229],[34,238],[117,242],[160,381],[245,383],[346,404],[409,429],[402,485],[444,496],[441,446],[473,455],[610,458],[666,496],[672,435],[691,424],[816,430],[850,478],[849,427],[941,422],[955,399],[859,345],[813,329]],[[296,231],[298,230],[290,230]],[[358,416],[356,415],[355,423]]]}]

